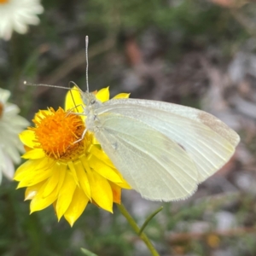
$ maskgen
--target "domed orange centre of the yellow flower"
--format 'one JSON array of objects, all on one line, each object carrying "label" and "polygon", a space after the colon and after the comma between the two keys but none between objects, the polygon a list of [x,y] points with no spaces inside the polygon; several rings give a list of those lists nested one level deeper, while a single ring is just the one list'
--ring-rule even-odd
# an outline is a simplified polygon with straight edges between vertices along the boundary
[{"label": "domed orange centre of the yellow flower", "polygon": [[36,148],[43,148],[44,153],[55,160],[74,160],[84,154],[84,149],[91,143],[89,132],[82,138],[85,129],[83,119],[62,108],[40,111],[33,122],[36,127],[30,130],[35,132]]}]

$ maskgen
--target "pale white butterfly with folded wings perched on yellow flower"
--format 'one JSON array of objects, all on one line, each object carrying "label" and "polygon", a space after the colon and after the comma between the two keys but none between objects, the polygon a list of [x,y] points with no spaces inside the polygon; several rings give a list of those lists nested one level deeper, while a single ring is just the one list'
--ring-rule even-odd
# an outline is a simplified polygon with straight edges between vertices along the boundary
[{"label": "pale white butterfly with folded wings perched on yellow flower", "polygon": [[88,90],[87,47],[88,37],[87,91],[81,92],[86,131],[143,198],[187,198],[230,160],[240,137],[210,113],[131,98],[98,101]]}]

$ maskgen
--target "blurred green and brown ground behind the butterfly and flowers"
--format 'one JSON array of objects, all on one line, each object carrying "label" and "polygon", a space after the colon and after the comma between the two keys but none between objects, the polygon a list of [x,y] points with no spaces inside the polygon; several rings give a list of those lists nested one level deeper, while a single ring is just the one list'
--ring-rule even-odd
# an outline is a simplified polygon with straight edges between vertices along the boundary
[{"label": "blurred green and brown ground behind the butterfly and flowers", "polygon": [[[44,0],[40,24],[0,40],[0,87],[21,115],[63,106],[67,91],[26,86],[69,81],[90,90],[174,102],[213,113],[241,136],[236,154],[186,201],[143,200],[124,191],[138,224],[163,206],[148,234],[160,255],[256,255],[256,1]],[[1,17],[0,17],[1,19]],[[88,206],[70,228],[52,207],[29,215],[24,189],[0,186],[0,255],[150,255],[114,207]]]}]

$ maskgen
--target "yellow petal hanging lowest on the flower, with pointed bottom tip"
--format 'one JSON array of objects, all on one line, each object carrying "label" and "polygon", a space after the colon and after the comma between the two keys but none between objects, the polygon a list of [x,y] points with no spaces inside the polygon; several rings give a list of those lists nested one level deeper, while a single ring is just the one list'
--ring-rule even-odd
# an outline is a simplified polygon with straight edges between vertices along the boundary
[{"label": "yellow petal hanging lowest on the flower, with pointed bottom tip", "polygon": [[67,211],[64,214],[64,217],[67,219],[67,222],[73,226],[75,221],[80,217],[80,215],[84,212],[85,207],[88,204],[88,197],[84,194],[83,189],[79,189],[78,187],[75,189],[73,193],[73,199],[71,204],[69,205]]}]

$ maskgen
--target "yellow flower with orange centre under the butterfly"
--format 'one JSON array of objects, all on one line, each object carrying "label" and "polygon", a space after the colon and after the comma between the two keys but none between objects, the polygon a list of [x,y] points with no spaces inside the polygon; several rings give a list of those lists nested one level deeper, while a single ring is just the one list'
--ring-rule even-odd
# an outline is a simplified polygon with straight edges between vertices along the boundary
[{"label": "yellow flower with orange centre under the butterfly", "polygon": [[[108,101],[108,88],[96,97]],[[64,216],[71,226],[88,202],[113,212],[113,202],[120,203],[121,189],[131,189],[92,133],[87,131],[79,141],[86,117],[73,112],[82,113],[82,106],[79,91],[73,90],[72,95],[67,93],[66,111],[39,111],[33,119],[35,127],[20,133],[26,162],[15,172],[18,188],[26,187],[25,200],[31,200],[31,212],[52,204],[58,220]]]}]

